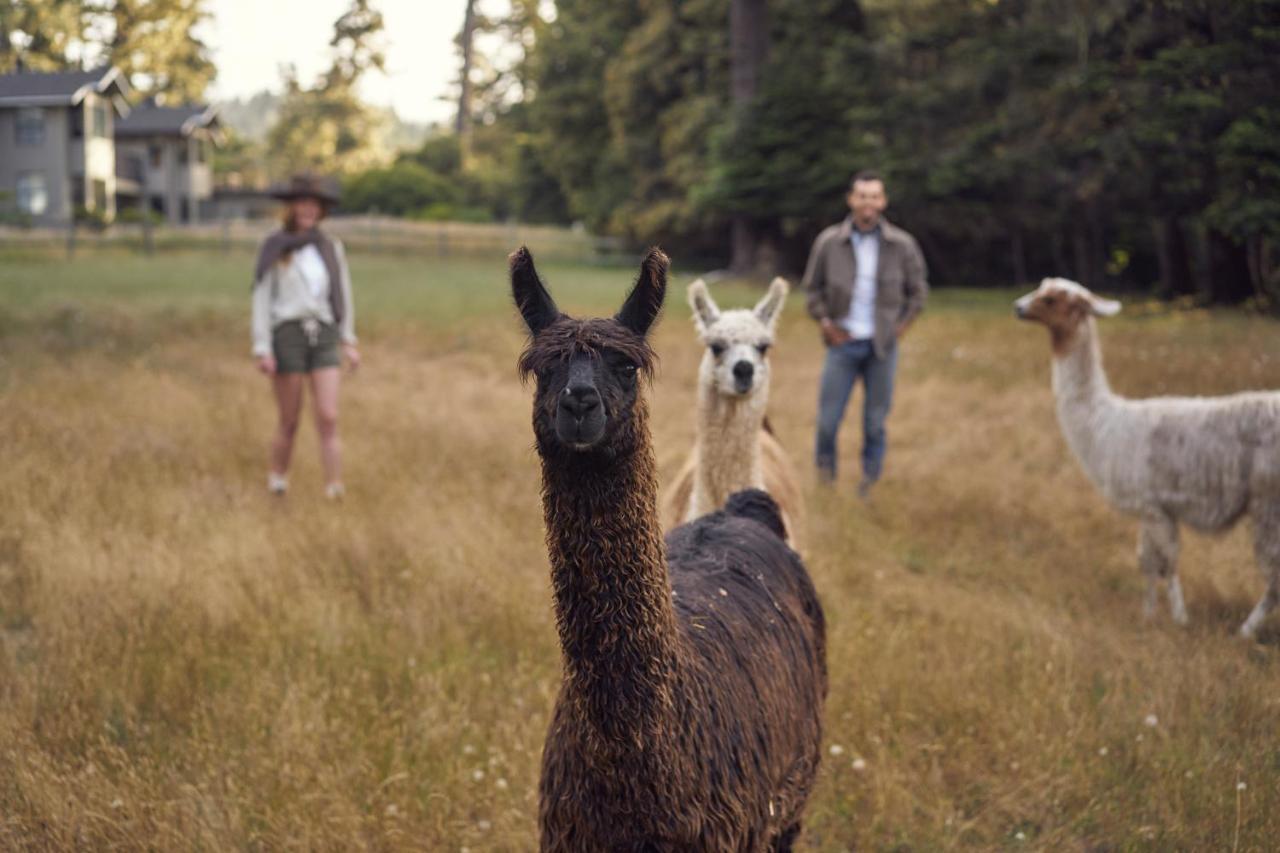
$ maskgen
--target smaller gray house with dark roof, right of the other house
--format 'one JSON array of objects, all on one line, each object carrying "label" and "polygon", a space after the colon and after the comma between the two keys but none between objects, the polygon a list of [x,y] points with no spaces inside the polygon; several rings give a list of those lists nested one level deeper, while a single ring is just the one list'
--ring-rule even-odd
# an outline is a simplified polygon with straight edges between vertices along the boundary
[{"label": "smaller gray house with dark roof, right of the other house", "polygon": [[220,141],[211,106],[133,108],[115,124],[116,204],[164,214],[174,224],[210,218],[211,158]]}]

